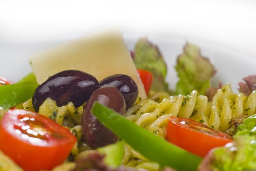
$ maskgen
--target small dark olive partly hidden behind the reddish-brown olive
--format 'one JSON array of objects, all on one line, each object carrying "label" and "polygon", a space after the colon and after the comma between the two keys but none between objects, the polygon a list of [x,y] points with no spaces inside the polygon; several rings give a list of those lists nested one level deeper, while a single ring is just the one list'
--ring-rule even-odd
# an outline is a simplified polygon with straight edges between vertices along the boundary
[{"label": "small dark olive partly hidden behind the reddish-brown olive", "polygon": [[109,76],[99,83],[100,87],[114,86],[123,94],[126,109],[131,107],[138,96],[138,87],[135,81],[128,75],[116,74]]}]

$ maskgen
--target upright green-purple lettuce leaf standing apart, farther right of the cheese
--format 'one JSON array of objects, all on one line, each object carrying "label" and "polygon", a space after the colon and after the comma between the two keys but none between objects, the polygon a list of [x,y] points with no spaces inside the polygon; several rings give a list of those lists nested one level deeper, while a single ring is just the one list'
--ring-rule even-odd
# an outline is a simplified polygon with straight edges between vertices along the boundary
[{"label": "upright green-purple lettuce leaf standing apart, farther right of the cheese", "polygon": [[216,73],[209,59],[203,57],[199,48],[186,43],[183,54],[178,56],[175,67],[180,78],[176,86],[176,94],[188,95],[197,90],[199,94],[205,94],[210,87],[210,79]]}]

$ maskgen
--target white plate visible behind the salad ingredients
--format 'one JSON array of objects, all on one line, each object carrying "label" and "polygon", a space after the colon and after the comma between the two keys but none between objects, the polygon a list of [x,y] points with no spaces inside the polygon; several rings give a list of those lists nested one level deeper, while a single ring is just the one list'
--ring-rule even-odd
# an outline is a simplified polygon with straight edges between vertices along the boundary
[{"label": "white plate visible behind the salad ingredients", "polygon": [[[134,48],[136,41],[144,35],[124,34],[125,42],[129,50]],[[148,39],[156,44],[168,65],[167,80],[171,88],[174,88],[177,82],[176,64],[177,55],[182,53],[182,48],[186,43],[183,38],[150,35]],[[24,75],[31,72],[31,68],[27,61],[28,57],[33,53],[42,51],[49,47],[65,43],[72,38],[56,40],[54,42],[22,42],[22,43],[2,43],[0,44],[0,75],[8,78],[11,81],[18,81]],[[217,74],[212,79],[213,85],[217,86],[219,82],[229,82],[236,92],[238,82],[243,77],[256,74],[256,59],[237,54],[228,49],[223,49],[216,45],[212,45],[198,40],[188,40],[191,43],[198,45],[203,56],[209,57],[212,64],[217,70]]]}]

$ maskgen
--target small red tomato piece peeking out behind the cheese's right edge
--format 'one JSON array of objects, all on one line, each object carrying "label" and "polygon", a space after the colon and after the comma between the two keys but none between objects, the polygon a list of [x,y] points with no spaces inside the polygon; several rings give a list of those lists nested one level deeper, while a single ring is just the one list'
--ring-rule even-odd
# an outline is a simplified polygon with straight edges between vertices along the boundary
[{"label": "small red tomato piece peeking out behind the cheese's right edge", "polygon": [[140,70],[140,69],[137,69],[137,72],[140,75],[140,78],[141,78],[142,83],[144,85],[145,91],[148,95],[149,91],[150,91],[150,88],[151,88],[151,85],[152,85],[153,75],[149,71]]}]

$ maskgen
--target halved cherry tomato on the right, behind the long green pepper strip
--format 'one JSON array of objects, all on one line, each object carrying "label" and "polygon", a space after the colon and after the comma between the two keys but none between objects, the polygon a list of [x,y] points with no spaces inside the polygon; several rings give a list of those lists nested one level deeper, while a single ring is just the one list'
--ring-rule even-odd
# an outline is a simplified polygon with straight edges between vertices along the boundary
[{"label": "halved cherry tomato on the right, behind the long green pepper strip", "polygon": [[169,142],[204,157],[214,147],[223,146],[233,138],[192,119],[170,117],[167,127]]}]

